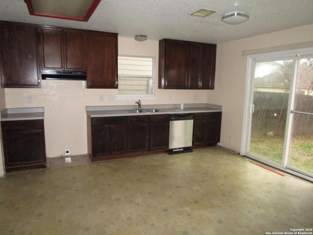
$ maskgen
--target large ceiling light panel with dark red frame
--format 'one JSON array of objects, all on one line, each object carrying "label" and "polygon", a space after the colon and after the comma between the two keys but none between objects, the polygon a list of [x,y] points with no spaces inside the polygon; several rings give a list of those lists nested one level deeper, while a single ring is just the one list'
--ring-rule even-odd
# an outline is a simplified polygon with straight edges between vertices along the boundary
[{"label": "large ceiling light panel with dark red frame", "polygon": [[24,0],[29,14],[87,22],[101,0]]}]

